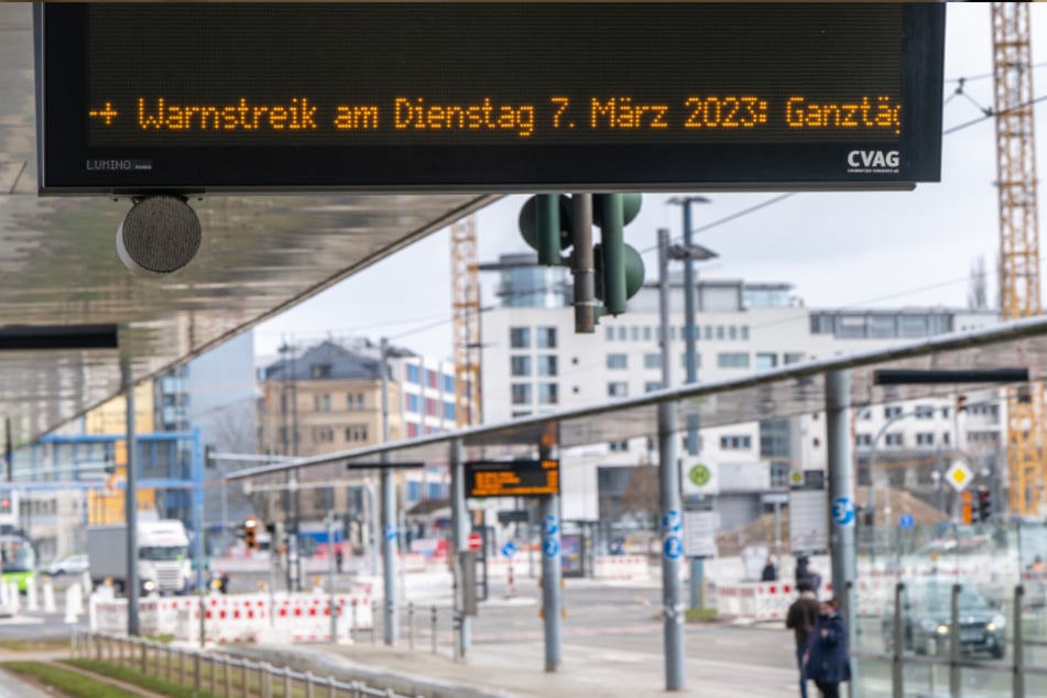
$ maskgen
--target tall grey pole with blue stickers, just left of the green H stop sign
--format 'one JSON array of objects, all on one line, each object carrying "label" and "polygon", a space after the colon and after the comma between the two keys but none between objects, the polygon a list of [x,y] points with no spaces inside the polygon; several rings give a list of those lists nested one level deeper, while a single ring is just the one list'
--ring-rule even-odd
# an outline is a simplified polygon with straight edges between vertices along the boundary
[{"label": "tall grey pole with blue stickers, just left of the green H stop sign", "polygon": [[[669,385],[673,361],[669,351],[668,239],[658,230],[658,318],[662,339],[662,384]],[[684,544],[679,455],[676,440],[679,416],[675,403],[658,404],[658,473],[662,500],[662,604],[665,634],[665,689],[684,690],[684,601],[679,582]]]}]

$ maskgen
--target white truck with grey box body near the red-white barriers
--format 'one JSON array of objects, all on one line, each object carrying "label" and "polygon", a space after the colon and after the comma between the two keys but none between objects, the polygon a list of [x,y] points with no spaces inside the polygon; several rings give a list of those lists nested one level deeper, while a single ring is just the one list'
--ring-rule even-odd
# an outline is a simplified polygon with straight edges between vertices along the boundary
[{"label": "white truck with grey box body near the red-white barriers", "polygon": [[[144,593],[187,593],[192,589],[189,536],[177,520],[140,521],[138,543],[139,589]],[[87,527],[87,556],[95,587],[111,579],[118,593],[127,589],[128,535],[126,524]]]}]

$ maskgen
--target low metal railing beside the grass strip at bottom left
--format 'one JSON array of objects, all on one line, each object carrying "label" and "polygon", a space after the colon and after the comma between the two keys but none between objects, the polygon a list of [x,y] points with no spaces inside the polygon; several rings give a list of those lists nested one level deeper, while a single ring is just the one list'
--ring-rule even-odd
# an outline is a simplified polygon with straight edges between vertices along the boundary
[{"label": "low metal railing beside the grass strip at bottom left", "polygon": [[340,680],[296,672],[268,662],[252,662],[215,652],[174,647],[164,643],[74,630],[74,659],[94,659],[135,670],[171,684],[207,690],[212,696],[242,698],[419,698],[374,688],[358,680]]}]

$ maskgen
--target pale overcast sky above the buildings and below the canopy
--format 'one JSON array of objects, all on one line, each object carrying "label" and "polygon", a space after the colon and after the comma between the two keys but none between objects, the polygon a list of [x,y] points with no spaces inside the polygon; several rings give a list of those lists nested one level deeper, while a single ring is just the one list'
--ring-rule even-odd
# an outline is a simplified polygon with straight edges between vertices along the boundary
[{"label": "pale overcast sky above the buildings and below the canopy", "polygon": [[[1047,64],[1040,67],[1047,63],[1045,6],[1032,6],[1035,97],[1047,95]],[[963,307],[970,268],[983,255],[990,271],[990,302],[996,304],[1000,231],[993,187],[994,123],[983,119],[948,133],[979,119],[981,108],[992,106],[991,74],[989,3],[949,3],[941,183],[921,184],[915,192],[800,193],[738,217],[781,194],[706,194],[711,203],[692,209],[696,228],[734,218],[695,238],[720,255],[701,265],[699,273],[790,283],[795,295],[810,307]],[[966,78],[963,94],[952,96],[958,78]],[[1047,103],[1036,108],[1036,131],[1039,153],[1044,153]],[[1047,172],[1045,167],[1047,163],[1038,156],[1037,171]],[[657,269],[653,249],[657,229],[668,228],[674,238],[681,235],[681,212],[666,203],[670,196],[644,195],[640,217],[625,230],[626,242],[645,252],[648,281]],[[527,249],[516,228],[525,199],[510,196],[478,214],[481,262]],[[1047,209],[1040,209],[1044,219]],[[1047,257],[1047,250],[1040,257]],[[494,299],[495,276],[481,274],[484,304]],[[424,293],[417,291],[419,277],[426,280]],[[360,303],[359,298],[382,301]],[[255,352],[271,357],[282,341],[309,345],[327,336],[374,340],[384,336],[425,356],[450,358],[450,242],[441,230],[260,325]]]}]

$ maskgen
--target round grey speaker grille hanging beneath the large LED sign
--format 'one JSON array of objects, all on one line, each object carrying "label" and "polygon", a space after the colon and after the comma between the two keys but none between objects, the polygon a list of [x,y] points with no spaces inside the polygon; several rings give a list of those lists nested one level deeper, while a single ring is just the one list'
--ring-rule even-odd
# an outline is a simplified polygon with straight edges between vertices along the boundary
[{"label": "round grey speaker grille hanging beneath the large LED sign", "polygon": [[200,219],[175,196],[150,196],[117,229],[117,253],[131,272],[162,276],[188,264],[200,249]]}]

